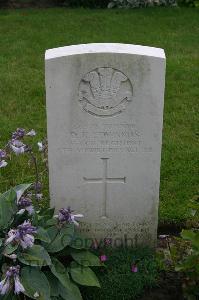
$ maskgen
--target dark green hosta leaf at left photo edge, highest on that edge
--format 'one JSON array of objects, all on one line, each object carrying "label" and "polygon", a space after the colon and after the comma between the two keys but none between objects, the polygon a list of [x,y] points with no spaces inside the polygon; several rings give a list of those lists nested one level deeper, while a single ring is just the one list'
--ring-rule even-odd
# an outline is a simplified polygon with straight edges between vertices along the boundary
[{"label": "dark green hosta leaf at left photo edge, highest on that edge", "polygon": [[17,211],[17,194],[11,189],[0,195],[0,228],[7,228]]}]

